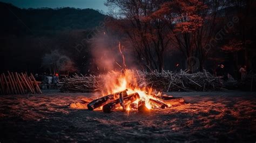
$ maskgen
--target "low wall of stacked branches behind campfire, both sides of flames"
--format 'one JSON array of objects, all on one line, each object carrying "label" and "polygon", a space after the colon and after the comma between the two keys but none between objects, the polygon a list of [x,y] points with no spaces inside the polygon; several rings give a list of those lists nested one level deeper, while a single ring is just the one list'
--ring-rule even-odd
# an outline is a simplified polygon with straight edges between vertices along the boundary
[{"label": "low wall of stacked branches behind campfire, both sides of flames", "polygon": [[[163,71],[144,72],[133,71],[139,87],[152,87],[153,89],[169,92],[169,91],[215,91],[223,87],[221,77],[214,77],[209,72],[187,73],[180,71],[172,73]],[[122,73],[120,73],[122,74]],[[103,91],[103,76],[73,76],[72,78],[63,79],[63,92],[93,92]]]}]

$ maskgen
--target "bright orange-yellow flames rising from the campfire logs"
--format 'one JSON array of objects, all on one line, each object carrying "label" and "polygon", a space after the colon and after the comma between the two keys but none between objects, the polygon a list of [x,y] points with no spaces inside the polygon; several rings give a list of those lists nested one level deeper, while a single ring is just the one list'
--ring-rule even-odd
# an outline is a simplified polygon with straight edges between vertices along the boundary
[{"label": "bright orange-yellow flames rising from the campfire logs", "polygon": [[[138,105],[139,100],[145,101],[146,107],[148,109],[152,108],[149,99],[154,98],[152,93],[152,88],[139,87],[137,84],[137,79],[134,77],[132,70],[124,70],[123,73],[117,71],[111,71],[104,76],[105,90],[107,94],[116,93],[127,89],[127,94],[132,94],[137,92],[140,99],[137,99],[133,103]],[[104,93],[103,93],[104,94]],[[128,110],[131,110],[128,108]]]}]

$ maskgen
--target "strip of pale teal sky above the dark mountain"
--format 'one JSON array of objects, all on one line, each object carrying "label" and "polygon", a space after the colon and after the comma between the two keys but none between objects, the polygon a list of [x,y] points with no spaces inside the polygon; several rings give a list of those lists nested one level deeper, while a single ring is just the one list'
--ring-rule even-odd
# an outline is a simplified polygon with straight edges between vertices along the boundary
[{"label": "strip of pale teal sky above the dark mountain", "polygon": [[0,0],[0,2],[11,3],[19,8],[73,7],[107,12],[107,6],[104,5],[105,0]]}]

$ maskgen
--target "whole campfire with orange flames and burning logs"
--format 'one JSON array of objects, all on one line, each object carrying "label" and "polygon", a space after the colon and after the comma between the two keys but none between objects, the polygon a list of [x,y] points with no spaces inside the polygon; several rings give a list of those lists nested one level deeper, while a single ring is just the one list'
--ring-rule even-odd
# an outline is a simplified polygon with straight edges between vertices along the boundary
[{"label": "whole campfire with orange flames and burning logs", "polygon": [[[122,108],[123,111],[138,110],[150,111],[152,108],[167,108],[173,103],[183,103],[183,98],[174,98],[156,94],[152,88],[140,87],[131,70],[123,74],[112,71],[104,76],[107,96],[100,97],[87,104],[89,110],[102,107],[103,112],[110,113],[114,109]],[[178,99],[178,100],[177,100]]]}]

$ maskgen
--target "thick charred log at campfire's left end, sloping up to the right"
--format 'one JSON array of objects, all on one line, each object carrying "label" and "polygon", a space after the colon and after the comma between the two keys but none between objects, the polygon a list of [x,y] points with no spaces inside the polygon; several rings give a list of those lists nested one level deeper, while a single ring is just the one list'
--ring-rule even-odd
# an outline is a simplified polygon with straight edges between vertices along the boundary
[{"label": "thick charred log at campfire's left end, sloping up to the right", "polygon": [[[124,91],[121,91],[121,92],[109,94],[109,95],[104,96],[104,97],[102,97],[102,98],[95,99],[95,100],[91,101],[91,102],[87,105],[87,107],[88,107],[89,110],[94,110],[95,108],[98,108],[98,107],[100,107],[100,106],[103,106],[103,105],[109,103],[110,101],[116,99],[117,96],[118,96],[118,94],[120,94],[120,93],[122,93],[122,92],[126,92],[126,91],[127,91],[127,90],[124,90]],[[124,95],[126,96],[127,93],[124,94]],[[123,96],[124,96],[124,95],[123,95]],[[119,99],[118,99],[118,100],[119,100]]]}]

